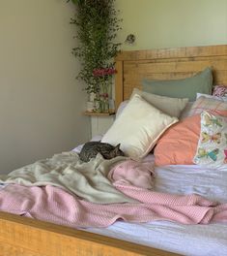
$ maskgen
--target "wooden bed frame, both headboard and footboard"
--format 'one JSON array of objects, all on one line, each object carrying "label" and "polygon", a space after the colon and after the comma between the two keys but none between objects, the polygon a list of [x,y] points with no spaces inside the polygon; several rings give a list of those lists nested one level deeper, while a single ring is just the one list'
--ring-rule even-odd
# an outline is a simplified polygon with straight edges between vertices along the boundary
[{"label": "wooden bed frame, both headboard and footboard", "polygon": [[[116,107],[142,78],[181,79],[213,68],[214,84],[227,85],[227,45],[123,51],[116,58]],[[2,256],[177,255],[10,213],[0,212]]]}]

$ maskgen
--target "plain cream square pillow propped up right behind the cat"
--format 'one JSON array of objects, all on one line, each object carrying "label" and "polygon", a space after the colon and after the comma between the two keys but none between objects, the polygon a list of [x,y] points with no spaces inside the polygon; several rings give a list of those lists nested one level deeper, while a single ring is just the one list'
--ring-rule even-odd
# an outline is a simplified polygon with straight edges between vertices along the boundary
[{"label": "plain cream square pillow propped up right behind the cat", "polygon": [[121,149],[133,160],[140,160],[155,146],[162,133],[178,121],[157,110],[135,94],[125,110],[103,136],[101,143],[121,144]]}]

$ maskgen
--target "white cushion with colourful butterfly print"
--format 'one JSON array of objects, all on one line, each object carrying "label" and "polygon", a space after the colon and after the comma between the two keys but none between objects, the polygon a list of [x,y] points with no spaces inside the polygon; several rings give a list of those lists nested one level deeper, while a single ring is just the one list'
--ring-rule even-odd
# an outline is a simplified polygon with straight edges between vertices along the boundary
[{"label": "white cushion with colourful butterfly print", "polygon": [[193,162],[215,168],[227,165],[227,117],[201,113],[201,132]]}]

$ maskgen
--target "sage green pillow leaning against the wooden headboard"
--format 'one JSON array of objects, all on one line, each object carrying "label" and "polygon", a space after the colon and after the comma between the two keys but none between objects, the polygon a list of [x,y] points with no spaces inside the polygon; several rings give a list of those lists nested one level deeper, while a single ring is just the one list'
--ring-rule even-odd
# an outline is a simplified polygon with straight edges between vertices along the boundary
[{"label": "sage green pillow leaning against the wooden headboard", "polygon": [[212,94],[212,69],[204,71],[184,80],[142,80],[143,90],[160,96],[172,98],[188,98],[196,100],[196,93]]}]

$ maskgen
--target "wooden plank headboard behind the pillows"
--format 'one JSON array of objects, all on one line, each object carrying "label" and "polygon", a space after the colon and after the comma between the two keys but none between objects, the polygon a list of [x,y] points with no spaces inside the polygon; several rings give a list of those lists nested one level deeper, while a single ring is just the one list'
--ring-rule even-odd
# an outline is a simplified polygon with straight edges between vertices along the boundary
[{"label": "wooden plank headboard behind the pillows", "polygon": [[116,108],[134,87],[141,88],[143,78],[184,79],[206,67],[213,69],[213,84],[227,86],[227,45],[122,51],[116,57]]}]

